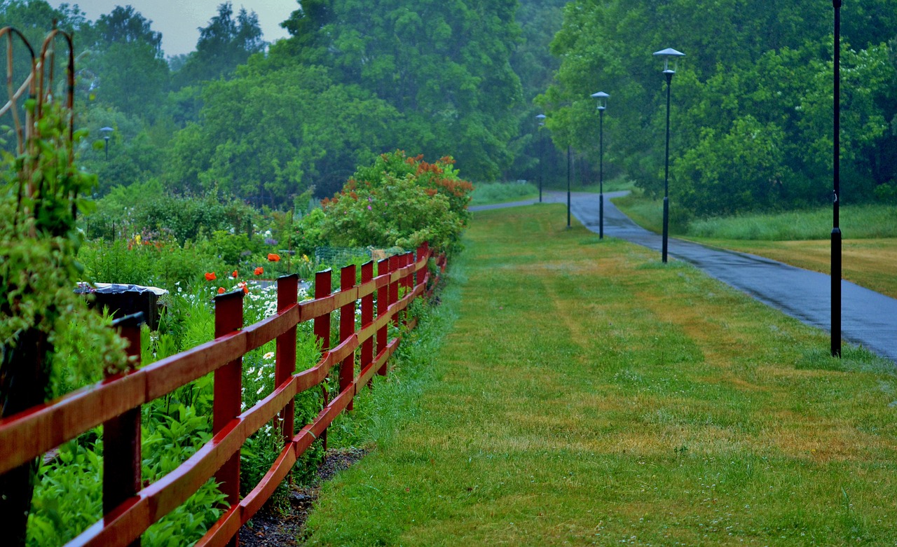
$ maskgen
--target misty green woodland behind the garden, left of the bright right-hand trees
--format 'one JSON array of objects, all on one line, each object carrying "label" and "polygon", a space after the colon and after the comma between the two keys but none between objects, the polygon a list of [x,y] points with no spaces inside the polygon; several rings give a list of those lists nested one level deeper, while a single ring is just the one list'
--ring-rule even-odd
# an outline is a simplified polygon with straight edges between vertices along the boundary
[{"label": "misty green woodland behind the garden, left of the bright right-hand trees", "polygon": [[[557,65],[547,44],[561,2],[296,7],[282,23],[292,38],[267,44],[255,13],[221,4],[196,50],[167,59],[160,33],[131,6],[91,22],[65,4],[6,0],[0,16],[37,44],[53,20],[74,30],[79,125],[97,143],[109,136],[108,160],[102,146],[81,155],[99,195],[153,180],[173,193],[289,204],[309,187],[333,195],[359,165],[396,149],[451,155],[475,180],[533,168],[526,105]],[[527,30],[518,9],[534,22]]]}]

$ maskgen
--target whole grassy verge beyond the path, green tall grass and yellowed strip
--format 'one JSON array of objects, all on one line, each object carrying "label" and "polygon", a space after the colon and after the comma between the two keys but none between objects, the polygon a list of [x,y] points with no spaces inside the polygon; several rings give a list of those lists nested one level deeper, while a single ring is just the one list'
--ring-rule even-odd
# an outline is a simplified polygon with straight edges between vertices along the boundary
[{"label": "whole grassy verge beyond the path, green tall grass and yellowed strip", "polygon": [[[649,230],[661,230],[661,204],[639,195],[614,199],[623,213]],[[842,248],[843,278],[897,298],[897,210],[861,205],[841,210],[841,228],[849,239]],[[682,239],[723,247],[814,272],[832,271],[832,211],[819,209],[778,214],[692,221]]]}]

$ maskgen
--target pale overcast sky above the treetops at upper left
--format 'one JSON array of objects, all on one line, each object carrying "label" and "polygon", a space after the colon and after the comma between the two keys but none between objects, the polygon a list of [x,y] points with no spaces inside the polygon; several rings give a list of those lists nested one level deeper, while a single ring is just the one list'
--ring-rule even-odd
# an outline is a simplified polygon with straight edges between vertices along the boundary
[{"label": "pale overcast sky above the treetops at upper left", "polygon": [[[196,49],[199,28],[206,27],[225,0],[48,0],[53,7],[59,4],[77,4],[87,18],[96,21],[100,15],[111,13],[117,5],[132,5],[144,18],[152,21],[152,30],[162,33],[162,49],[166,56],[189,53]],[[258,25],[264,39],[273,42],[286,38],[287,32],[280,23],[299,7],[297,0],[232,0],[234,17],[240,7],[258,15]],[[75,38],[77,39],[77,38]]]}]

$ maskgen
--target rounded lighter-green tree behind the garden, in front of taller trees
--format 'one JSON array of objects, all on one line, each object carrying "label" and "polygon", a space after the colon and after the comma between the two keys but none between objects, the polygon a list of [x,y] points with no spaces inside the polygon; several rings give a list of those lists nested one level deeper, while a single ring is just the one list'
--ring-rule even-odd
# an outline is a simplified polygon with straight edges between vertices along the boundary
[{"label": "rounded lighter-green tree behind the garden, in front of taller trees", "polygon": [[393,145],[402,117],[383,100],[335,84],[321,67],[266,67],[259,62],[207,86],[200,122],[175,136],[171,189],[217,187],[274,206],[312,185],[318,195],[335,191],[356,165],[372,161],[371,149]]}]

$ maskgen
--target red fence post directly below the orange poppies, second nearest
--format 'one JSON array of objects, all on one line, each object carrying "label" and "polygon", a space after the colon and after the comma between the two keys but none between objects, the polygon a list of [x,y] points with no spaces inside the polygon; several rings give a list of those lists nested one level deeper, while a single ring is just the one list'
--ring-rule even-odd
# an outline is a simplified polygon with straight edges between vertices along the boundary
[{"label": "red fence post directly below the orange poppies, second nearest", "polygon": [[[243,291],[231,291],[215,297],[215,338],[235,333],[243,328]],[[243,358],[239,357],[214,372],[212,434],[215,435],[239,416],[242,403]],[[239,503],[239,450],[215,473],[221,483],[222,494],[231,507]],[[239,545],[234,536],[228,543]]]}]

